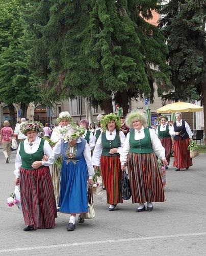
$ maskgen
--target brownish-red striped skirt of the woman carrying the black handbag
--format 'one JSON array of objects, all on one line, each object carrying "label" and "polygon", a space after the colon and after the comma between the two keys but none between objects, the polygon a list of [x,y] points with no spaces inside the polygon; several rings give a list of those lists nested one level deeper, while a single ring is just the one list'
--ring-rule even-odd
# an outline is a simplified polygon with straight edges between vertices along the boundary
[{"label": "brownish-red striped skirt of the woman carrying the black handbag", "polygon": [[132,202],[164,202],[165,195],[155,153],[128,153]]}]

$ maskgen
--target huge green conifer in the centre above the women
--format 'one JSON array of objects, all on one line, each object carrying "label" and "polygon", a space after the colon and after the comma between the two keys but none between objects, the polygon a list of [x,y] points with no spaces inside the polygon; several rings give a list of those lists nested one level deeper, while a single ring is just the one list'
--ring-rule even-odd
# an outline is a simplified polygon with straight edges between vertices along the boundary
[{"label": "huge green conifer in the centre above the women", "polygon": [[128,99],[153,100],[153,82],[159,94],[165,91],[165,38],[145,20],[158,10],[157,2],[39,1],[27,20],[35,35],[31,62],[47,74],[46,98],[90,97],[108,113],[114,95],[127,112]]}]

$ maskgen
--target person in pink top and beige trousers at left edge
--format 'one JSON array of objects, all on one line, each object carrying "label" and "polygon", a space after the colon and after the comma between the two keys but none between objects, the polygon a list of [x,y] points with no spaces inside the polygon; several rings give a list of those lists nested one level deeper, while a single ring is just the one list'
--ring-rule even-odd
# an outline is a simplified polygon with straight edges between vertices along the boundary
[{"label": "person in pink top and beige trousers at left edge", "polygon": [[6,163],[9,163],[10,156],[11,156],[11,142],[12,137],[14,136],[14,132],[12,127],[9,127],[9,121],[4,121],[4,127],[1,129],[1,144],[3,145],[3,153],[6,158]]}]

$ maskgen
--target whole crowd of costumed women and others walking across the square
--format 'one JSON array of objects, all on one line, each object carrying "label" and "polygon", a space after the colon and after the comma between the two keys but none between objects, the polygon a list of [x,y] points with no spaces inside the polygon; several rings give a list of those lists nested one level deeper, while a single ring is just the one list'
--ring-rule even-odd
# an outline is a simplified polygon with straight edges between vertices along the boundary
[{"label": "whole crowd of costumed women and others walking across the square", "polygon": [[[4,122],[1,143],[9,163],[12,137],[19,139],[15,159],[15,185],[19,186],[24,231],[53,228],[57,211],[69,214],[68,231],[75,229],[76,215],[83,223],[88,212],[88,187],[100,172],[106,188],[109,211],[123,203],[121,180],[126,169],[130,179],[132,203],[136,212],[152,211],[153,202],[164,202],[161,168],[168,168],[172,140],[176,171],[188,169],[192,132],[182,114],[176,122],[159,118],[156,130],[148,127],[146,116],[138,111],[126,117],[98,115],[94,132],[85,119],[72,122],[69,112],[60,113],[53,131],[48,124],[21,119],[15,131]],[[43,132],[44,137],[40,135]],[[52,132],[52,133],[51,133]],[[172,138],[171,138],[172,137]],[[145,206],[146,205],[146,206]]]}]

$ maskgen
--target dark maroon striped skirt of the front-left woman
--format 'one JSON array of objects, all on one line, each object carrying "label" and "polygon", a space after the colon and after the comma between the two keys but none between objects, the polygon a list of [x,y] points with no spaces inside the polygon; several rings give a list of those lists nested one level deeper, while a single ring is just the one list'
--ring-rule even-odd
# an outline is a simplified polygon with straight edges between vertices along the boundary
[{"label": "dark maroon striped skirt of the front-left woman", "polygon": [[34,229],[55,226],[57,207],[47,166],[35,170],[21,168],[20,194],[25,225]]}]

